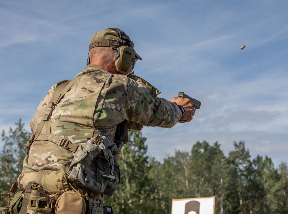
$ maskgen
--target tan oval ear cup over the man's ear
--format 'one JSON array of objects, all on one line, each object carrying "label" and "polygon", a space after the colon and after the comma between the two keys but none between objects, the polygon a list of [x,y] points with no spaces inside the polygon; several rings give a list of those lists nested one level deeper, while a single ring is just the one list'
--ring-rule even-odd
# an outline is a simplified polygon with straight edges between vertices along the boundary
[{"label": "tan oval ear cup over the man's ear", "polygon": [[126,74],[131,69],[135,60],[135,54],[131,47],[123,45],[119,47],[119,56],[116,56],[115,65],[118,72]]}]

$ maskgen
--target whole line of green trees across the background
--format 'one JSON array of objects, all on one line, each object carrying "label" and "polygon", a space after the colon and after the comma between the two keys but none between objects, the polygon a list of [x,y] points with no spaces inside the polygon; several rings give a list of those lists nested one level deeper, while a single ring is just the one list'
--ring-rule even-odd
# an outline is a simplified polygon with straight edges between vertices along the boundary
[{"label": "whole line of green trees across the background", "polygon": [[[29,138],[23,126],[20,119],[15,129],[2,131],[2,193],[9,192],[22,169]],[[216,213],[287,214],[287,163],[274,167],[267,156],[252,159],[242,141],[234,142],[228,156],[218,142],[203,141],[190,152],[176,150],[159,162],[148,155],[145,141],[140,131],[129,132],[120,154],[120,184],[103,198],[114,213],[171,213],[172,199],[216,196]]]}]

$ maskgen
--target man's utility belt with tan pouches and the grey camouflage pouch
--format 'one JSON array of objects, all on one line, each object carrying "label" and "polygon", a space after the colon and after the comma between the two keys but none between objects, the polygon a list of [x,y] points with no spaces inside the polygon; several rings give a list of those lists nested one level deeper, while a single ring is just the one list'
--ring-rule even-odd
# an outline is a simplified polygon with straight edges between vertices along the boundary
[{"label": "man's utility belt with tan pouches and the grey camouflage pouch", "polygon": [[[42,183],[35,183],[32,177],[30,181],[34,182],[29,182],[25,190],[16,192],[15,182],[10,190],[15,195],[7,207],[0,208],[0,214],[113,214],[112,207],[103,206],[101,198],[116,190],[120,171],[115,154],[123,145],[121,141],[112,143],[100,135],[92,140],[87,138],[85,146],[79,145],[73,155],[70,174],[68,177],[66,174],[69,188],[65,192],[45,191]],[[43,185],[46,185],[45,180]],[[10,193],[8,195],[10,197]]]}]

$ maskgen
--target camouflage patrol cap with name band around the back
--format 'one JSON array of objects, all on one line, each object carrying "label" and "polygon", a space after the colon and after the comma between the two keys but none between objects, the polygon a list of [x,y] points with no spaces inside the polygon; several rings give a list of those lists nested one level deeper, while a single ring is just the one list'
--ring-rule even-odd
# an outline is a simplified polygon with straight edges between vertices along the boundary
[{"label": "camouflage patrol cap with name band around the back", "polygon": [[[118,47],[118,44],[120,44],[120,46],[127,45],[132,49],[134,48],[134,43],[123,31],[121,34],[120,41],[118,38],[119,33],[114,29],[108,28],[105,30],[101,30],[93,35],[89,45],[89,51],[93,47]],[[134,49],[133,51],[136,58],[142,60],[142,58],[136,53]]]}]

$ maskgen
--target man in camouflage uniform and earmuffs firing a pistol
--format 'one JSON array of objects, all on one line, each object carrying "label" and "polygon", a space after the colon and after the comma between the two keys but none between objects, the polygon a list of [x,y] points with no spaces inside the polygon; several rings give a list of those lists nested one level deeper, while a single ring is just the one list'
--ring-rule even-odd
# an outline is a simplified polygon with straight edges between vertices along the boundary
[{"label": "man in camouflage uniform and earmuffs firing a pistol", "polygon": [[[191,121],[195,113],[189,99],[169,102],[159,98],[155,87],[131,72],[142,58],[122,30],[108,28],[95,33],[89,53],[88,66],[72,81],[53,85],[30,121],[33,134],[17,184],[26,192],[37,189],[34,198],[38,196],[40,201],[45,192],[49,209],[35,208],[30,202],[26,204],[29,213],[57,209],[57,213],[61,209],[77,213],[80,206],[75,207],[73,192],[86,203],[90,200],[87,207],[93,209],[91,201],[95,205],[93,200],[101,201],[103,194],[115,191],[118,154],[127,142],[129,126],[138,130],[143,126],[170,128],[178,121]],[[59,202],[67,192],[70,195],[65,197],[73,199]],[[31,199],[31,195],[25,197]],[[85,213],[85,206],[78,213]]]}]

